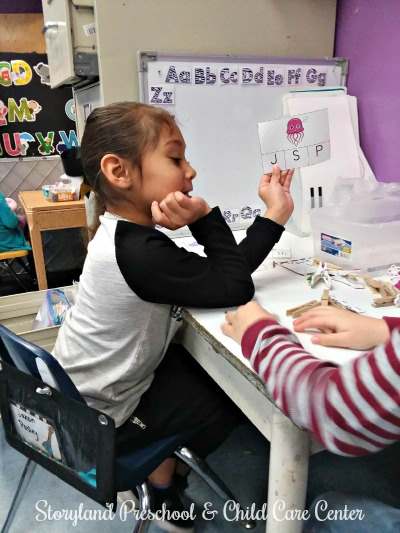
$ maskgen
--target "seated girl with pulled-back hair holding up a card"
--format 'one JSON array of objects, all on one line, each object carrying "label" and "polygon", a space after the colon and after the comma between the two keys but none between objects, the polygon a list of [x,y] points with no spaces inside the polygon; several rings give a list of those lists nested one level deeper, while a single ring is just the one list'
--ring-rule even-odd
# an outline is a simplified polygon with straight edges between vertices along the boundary
[{"label": "seated girl with pulled-back hair holding up a card", "polygon": [[[204,457],[237,422],[216,385],[170,344],[179,306],[234,306],[253,296],[251,273],[293,210],[293,173],[276,167],[261,178],[267,210],[237,245],[219,209],[191,195],[196,172],[165,110],[128,102],[95,109],[81,156],[106,212],[54,354],[87,403],[115,420],[118,452],[192,431],[182,444]],[[155,224],[188,225],[206,257],[179,248]],[[150,475],[156,507],[168,501],[181,509],[174,470],[175,461],[166,459]],[[165,527],[189,531],[192,524],[177,519]]]}]

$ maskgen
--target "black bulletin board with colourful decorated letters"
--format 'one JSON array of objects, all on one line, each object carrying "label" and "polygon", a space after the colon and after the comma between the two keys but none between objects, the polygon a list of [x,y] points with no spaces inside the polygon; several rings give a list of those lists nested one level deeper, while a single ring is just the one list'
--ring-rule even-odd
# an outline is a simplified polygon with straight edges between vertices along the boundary
[{"label": "black bulletin board with colourful decorated letters", "polygon": [[0,53],[0,158],[46,157],[77,145],[72,90],[50,89],[47,56]]}]

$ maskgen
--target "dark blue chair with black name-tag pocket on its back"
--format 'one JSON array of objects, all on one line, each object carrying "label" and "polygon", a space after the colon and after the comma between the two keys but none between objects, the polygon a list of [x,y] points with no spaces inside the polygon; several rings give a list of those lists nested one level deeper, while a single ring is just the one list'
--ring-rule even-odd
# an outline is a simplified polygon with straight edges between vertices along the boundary
[{"label": "dark blue chair with black name-tag pocket on its back", "polygon": [[[126,454],[115,453],[114,421],[90,408],[68,374],[46,350],[0,325],[0,407],[7,442],[28,457],[1,533],[11,525],[25,479],[40,464],[103,506],[116,509],[118,491],[136,490],[139,516],[150,510],[148,475],[175,454],[223,499],[236,498],[184,443],[189,433],[173,435]],[[30,420],[30,422],[29,422]],[[31,424],[31,425],[29,425]],[[35,429],[36,428],[36,429]],[[30,431],[48,432],[37,444]],[[135,533],[147,529],[139,519]],[[246,529],[255,527],[242,522]]]}]

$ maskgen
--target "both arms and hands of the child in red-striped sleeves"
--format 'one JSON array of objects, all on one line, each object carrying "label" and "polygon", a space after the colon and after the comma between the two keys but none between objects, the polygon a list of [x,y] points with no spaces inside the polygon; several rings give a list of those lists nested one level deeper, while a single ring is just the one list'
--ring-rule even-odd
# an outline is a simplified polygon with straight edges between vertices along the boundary
[{"label": "both arms and hands of the child in red-striped sleeves", "polygon": [[[390,430],[380,429],[386,416],[400,414],[400,318],[381,320],[317,307],[293,325],[295,331],[322,330],[313,335],[312,342],[317,344],[374,350],[339,367],[322,361],[307,353],[293,333],[254,301],[228,312],[222,329],[241,342],[244,356],[277,405],[296,424],[312,431],[328,450],[364,455],[400,440],[400,420]],[[354,390],[350,405],[346,390]],[[368,423],[361,393],[375,397]],[[390,405],[386,404],[388,394]]]}]

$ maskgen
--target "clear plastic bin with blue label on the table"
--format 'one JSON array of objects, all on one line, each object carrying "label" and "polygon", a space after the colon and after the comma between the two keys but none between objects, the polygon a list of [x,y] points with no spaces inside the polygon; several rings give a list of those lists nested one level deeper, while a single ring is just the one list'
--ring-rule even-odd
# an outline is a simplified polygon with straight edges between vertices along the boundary
[{"label": "clear plastic bin with blue label on the table", "polygon": [[395,188],[379,187],[357,200],[350,197],[342,205],[312,211],[315,256],[362,270],[399,264],[400,195],[396,193]]}]

